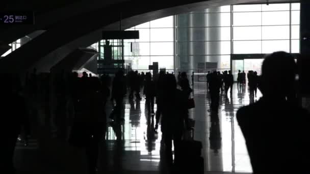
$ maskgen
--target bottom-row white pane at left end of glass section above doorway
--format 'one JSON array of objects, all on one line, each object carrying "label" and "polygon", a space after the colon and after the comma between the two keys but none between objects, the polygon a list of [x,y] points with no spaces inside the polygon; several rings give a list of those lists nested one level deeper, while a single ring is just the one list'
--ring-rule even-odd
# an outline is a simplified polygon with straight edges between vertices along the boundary
[{"label": "bottom-row white pane at left end of glass section above doorway", "polygon": [[262,41],[234,41],[234,54],[262,53]]}]

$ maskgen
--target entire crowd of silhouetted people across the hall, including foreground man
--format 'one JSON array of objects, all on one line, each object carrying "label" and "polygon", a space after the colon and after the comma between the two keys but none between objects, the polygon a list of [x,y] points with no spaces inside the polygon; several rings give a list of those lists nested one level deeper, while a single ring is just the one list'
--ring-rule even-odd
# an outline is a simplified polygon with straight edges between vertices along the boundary
[{"label": "entire crowd of silhouetted people across the hall, including foreground man", "polygon": [[[238,89],[244,88],[247,77],[250,97],[256,97],[257,89],[263,94],[259,101],[237,112],[254,173],[286,169],[305,173],[307,170],[306,127],[309,115],[297,105],[296,73],[294,57],[286,52],[267,56],[261,76],[254,71],[247,75],[244,71],[238,73]],[[124,98],[128,97],[130,103],[136,100],[140,105],[142,95],[145,95],[148,119],[156,119],[155,123],[148,122],[148,136],[158,132],[161,122],[166,162],[170,169],[172,166],[182,168],[184,131],[192,129],[188,110],[193,89],[186,72],[178,72],[175,76],[164,71],[130,71],[124,74],[119,70],[114,77],[108,74],[95,77],[86,72],[79,77],[76,72],[65,71],[39,75],[34,69],[22,78],[1,74],[1,79],[1,109],[6,113],[1,126],[5,148],[1,151],[4,169],[8,171],[14,171],[12,157],[16,139],[19,137],[28,146],[28,139],[38,137],[37,130],[45,126],[50,127],[54,137],[68,141],[71,146],[85,148],[89,172],[96,173],[98,146],[105,140],[107,119],[110,119],[117,140],[121,140]],[[194,73],[191,81],[194,85]],[[231,71],[209,71],[206,75],[211,99],[211,132],[216,132],[209,138],[216,140],[217,144],[212,144],[215,151],[221,139],[217,114],[220,93],[232,96],[233,84]],[[113,103],[109,115],[106,110],[108,101]],[[154,105],[157,105],[156,110]],[[40,107],[44,108],[46,118],[39,113]],[[294,168],[296,166],[299,167]]]}]

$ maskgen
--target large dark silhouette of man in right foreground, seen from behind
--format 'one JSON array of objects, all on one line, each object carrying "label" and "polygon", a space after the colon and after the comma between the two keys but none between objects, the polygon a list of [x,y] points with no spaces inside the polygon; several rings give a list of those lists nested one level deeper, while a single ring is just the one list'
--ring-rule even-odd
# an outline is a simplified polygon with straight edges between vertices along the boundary
[{"label": "large dark silhouette of man in right foreground, seen from behind", "polygon": [[259,85],[263,97],[237,112],[253,173],[310,171],[306,138],[309,114],[294,102],[296,69],[289,53],[267,56]]}]

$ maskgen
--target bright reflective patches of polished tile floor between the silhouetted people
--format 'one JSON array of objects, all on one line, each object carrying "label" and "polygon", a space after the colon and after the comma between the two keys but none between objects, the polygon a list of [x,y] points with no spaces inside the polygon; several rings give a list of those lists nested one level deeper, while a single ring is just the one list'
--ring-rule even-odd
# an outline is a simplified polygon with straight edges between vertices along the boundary
[{"label": "bright reflective patches of polished tile floor between the silhouetted people", "polygon": [[[252,172],[245,141],[238,126],[235,114],[239,107],[250,103],[248,88],[234,85],[233,94],[220,95],[218,115],[210,112],[210,98],[203,82],[194,84],[196,107],[190,110],[195,120],[194,139],[203,144],[204,169],[215,172]],[[257,92],[258,100],[261,93]],[[156,107],[156,106],[155,106]],[[153,134],[147,123],[145,99],[140,102],[125,102],[122,140],[125,170],[158,171],[160,169],[161,132]],[[212,124],[218,122],[218,124]],[[160,129],[159,129],[160,130]],[[108,140],[115,140],[116,134],[109,127]]]}]

